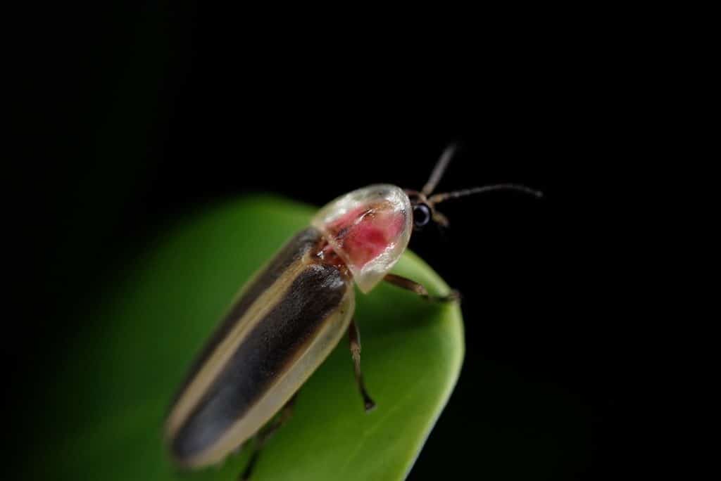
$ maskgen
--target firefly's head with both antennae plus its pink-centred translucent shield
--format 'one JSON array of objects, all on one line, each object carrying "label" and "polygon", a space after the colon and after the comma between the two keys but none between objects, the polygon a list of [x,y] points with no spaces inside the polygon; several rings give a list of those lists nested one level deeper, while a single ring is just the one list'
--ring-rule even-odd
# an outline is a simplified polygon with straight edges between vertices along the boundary
[{"label": "firefly's head with both antennae plus its pink-centred translucent shield", "polygon": [[388,274],[408,246],[412,230],[420,230],[431,222],[448,225],[446,216],[435,209],[444,200],[500,189],[540,197],[540,192],[516,184],[431,195],[454,150],[453,145],[446,148],[420,192],[375,184],[338,197],[313,218],[311,224],[345,262],[362,292],[373,289]]}]

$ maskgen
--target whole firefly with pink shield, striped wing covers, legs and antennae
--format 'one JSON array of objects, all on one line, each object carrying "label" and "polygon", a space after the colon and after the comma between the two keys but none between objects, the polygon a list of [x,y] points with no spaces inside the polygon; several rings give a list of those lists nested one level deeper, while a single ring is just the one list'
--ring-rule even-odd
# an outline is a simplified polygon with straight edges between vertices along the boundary
[{"label": "whole firefly with pink shield, striped wing covers, legs and antennae", "polygon": [[214,464],[256,436],[247,478],[267,434],[279,426],[269,421],[286,412],[283,407],[346,332],[364,405],[374,407],[363,384],[353,283],[367,293],[386,280],[431,298],[422,285],[389,271],[414,228],[447,222],[435,204],[456,194],[428,196],[450,154],[446,150],[421,192],[377,184],[330,202],[244,287],[167,417],[166,437],[177,464]]}]

